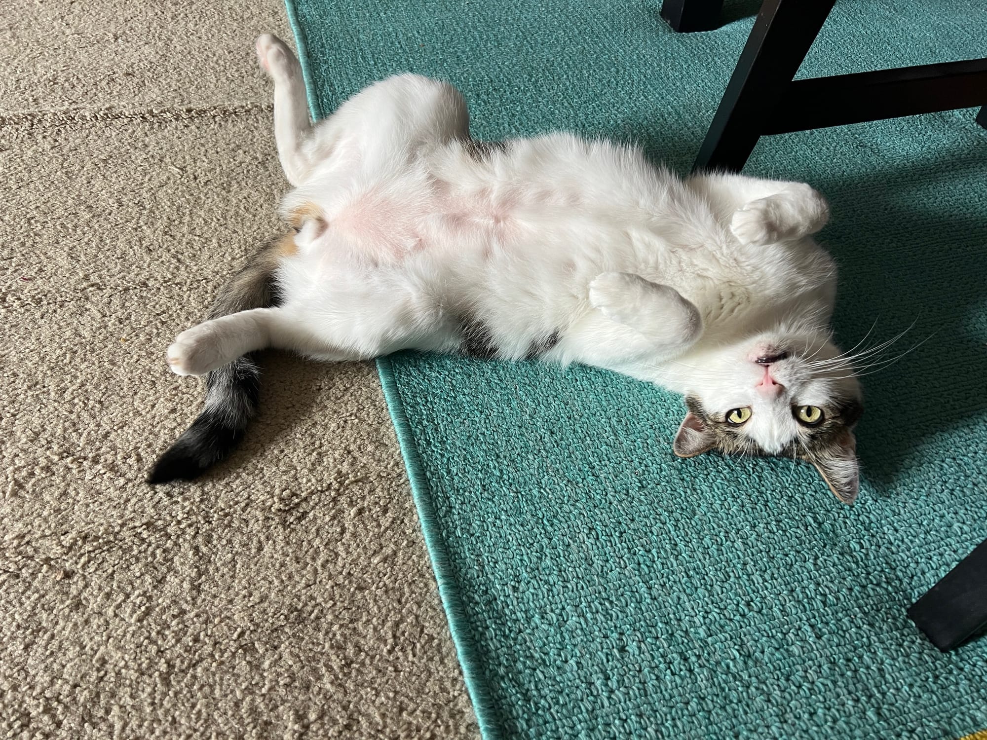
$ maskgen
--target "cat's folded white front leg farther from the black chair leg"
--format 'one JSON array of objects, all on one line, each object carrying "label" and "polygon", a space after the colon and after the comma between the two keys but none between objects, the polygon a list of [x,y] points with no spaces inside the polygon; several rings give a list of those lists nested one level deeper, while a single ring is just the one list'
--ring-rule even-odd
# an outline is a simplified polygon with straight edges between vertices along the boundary
[{"label": "cat's folded white front leg farther from the black chair leg", "polygon": [[631,272],[597,276],[589,284],[589,303],[594,310],[574,332],[574,354],[586,364],[674,357],[703,333],[699,310],[677,290]]}]

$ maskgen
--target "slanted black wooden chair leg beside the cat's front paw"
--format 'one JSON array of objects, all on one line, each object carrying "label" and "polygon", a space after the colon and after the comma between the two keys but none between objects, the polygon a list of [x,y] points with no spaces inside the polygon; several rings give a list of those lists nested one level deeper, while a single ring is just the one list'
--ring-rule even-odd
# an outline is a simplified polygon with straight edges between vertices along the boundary
[{"label": "slanted black wooden chair leg beside the cat's front paw", "polygon": [[739,172],[836,0],[765,0],[693,170]]}]

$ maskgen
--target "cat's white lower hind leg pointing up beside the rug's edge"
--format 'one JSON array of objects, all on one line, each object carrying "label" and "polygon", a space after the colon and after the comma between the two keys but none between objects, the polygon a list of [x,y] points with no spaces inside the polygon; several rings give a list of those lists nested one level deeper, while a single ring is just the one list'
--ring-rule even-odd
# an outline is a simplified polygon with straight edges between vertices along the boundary
[{"label": "cat's white lower hind leg pointing up beside the rug's edge", "polygon": [[284,176],[300,185],[311,172],[304,144],[312,131],[302,68],[291,49],[270,34],[258,37],[257,56],[274,82],[274,141]]}]

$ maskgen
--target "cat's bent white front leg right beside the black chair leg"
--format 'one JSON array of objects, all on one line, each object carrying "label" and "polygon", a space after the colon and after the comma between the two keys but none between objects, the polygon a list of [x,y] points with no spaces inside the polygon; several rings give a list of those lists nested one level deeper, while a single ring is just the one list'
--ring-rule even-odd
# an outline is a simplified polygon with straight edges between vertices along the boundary
[{"label": "cat's bent white front leg right beside the black chair leg", "polygon": [[829,205],[804,183],[743,175],[694,175],[686,185],[706,196],[741,244],[765,245],[815,234],[829,220]]}]

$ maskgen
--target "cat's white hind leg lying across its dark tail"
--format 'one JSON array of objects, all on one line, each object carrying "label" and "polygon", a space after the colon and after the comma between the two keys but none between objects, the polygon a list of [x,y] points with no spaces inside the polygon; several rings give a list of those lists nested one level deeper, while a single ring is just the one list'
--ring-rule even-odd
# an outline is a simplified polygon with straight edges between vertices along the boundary
[{"label": "cat's white hind leg lying across its dark tail", "polygon": [[374,356],[373,352],[333,346],[283,309],[263,308],[212,319],[180,333],[168,347],[168,364],[178,375],[205,375],[247,352],[268,347],[337,362]]}]

